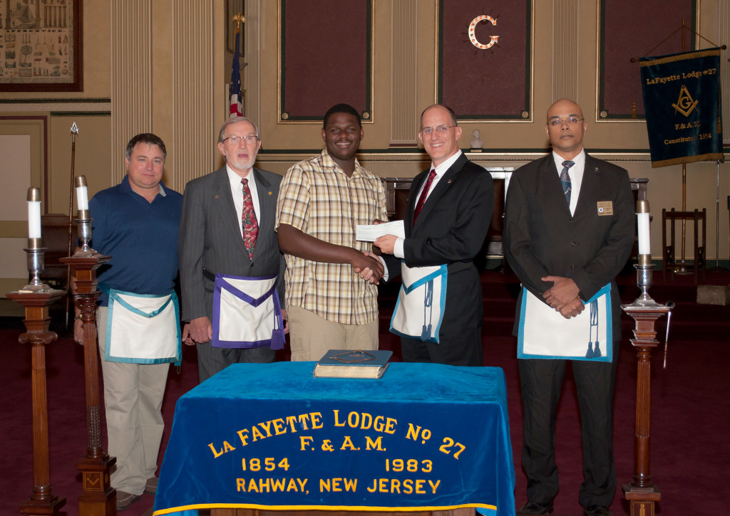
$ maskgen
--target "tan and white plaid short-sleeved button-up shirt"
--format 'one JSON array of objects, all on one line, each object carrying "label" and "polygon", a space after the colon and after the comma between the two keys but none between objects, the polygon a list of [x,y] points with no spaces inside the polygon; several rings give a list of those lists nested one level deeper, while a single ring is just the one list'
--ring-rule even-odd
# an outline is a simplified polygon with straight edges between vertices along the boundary
[{"label": "tan and white plaid short-sleeved button-up shirt", "polygon": [[[355,239],[357,224],[388,220],[385,188],[356,161],[347,177],[327,150],[291,167],[279,191],[277,221],[319,240],[364,252],[370,242]],[[365,324],[377,318],[377,286],[362,280],[349,264],[286,257],[286,305],[310,310],[328,321]]]}]

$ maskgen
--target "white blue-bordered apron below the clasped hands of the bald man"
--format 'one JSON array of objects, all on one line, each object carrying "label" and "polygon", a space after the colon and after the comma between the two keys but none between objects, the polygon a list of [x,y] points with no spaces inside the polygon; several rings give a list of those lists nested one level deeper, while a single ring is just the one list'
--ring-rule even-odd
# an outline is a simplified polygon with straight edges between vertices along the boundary
[{"label": "white blue-bordered apron below the clasped hands of the bald man", "polygon": [[518,359],[569,359],[610,362],[613,330],[611,284],[566,319],[528,289],[522,289]]}]

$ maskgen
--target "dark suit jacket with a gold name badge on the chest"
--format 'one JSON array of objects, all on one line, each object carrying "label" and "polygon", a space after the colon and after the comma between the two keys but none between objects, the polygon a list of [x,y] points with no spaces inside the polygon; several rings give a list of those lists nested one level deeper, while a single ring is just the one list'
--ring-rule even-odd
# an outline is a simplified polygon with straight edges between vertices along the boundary
[{"label": "dark suit jacket with a gold name badge on the chest", "polygon": [[[609,203],[612,214],[607,214]],[[599,213],[599,206],[604,206]],[[504,207],[504,256],[523,286],[542,299],[546,275],[572,278],[585,301],[612,286],[613,335],[621,337],[621,300],[615,276],[629,259],[635,234],[634,196],[625,169],[585,154],[575,208],[563,193],[553,154],[512,174]],[[517,305],[515,335],[520,318]]]}]

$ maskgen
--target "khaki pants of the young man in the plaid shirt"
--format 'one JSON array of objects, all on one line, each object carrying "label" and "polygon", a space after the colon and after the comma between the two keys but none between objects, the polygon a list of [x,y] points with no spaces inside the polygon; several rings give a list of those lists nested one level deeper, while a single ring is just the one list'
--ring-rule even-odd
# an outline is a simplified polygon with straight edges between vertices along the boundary
[{"label": "khaki pants of the young man in the plaid shirt", "polygon": [[286,315],[293,362],[318,361],[331,349],[377,349],[377,319],[366,324],[341,324],[299,306],[288,306]]}]

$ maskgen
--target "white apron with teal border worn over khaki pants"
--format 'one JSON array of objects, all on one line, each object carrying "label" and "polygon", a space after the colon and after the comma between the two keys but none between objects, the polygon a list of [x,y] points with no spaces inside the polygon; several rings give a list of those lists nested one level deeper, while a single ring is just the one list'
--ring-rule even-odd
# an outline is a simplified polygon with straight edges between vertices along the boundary
[{"label": "white apron with teal border worn over khaki pants", "polygon": [[154,295],[101,289],[109,293],[104,359],[134,364],[180,364],[180,308],[174,292]]}]

